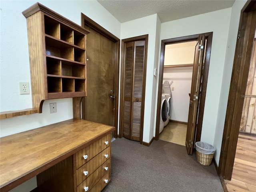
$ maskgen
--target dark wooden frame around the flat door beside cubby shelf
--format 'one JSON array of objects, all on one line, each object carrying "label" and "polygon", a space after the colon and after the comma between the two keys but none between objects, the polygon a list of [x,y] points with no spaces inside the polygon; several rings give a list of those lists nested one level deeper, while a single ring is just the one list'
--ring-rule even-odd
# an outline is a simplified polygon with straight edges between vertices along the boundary
[{"label": "dark wooden frame around the flat door beside cubby shelf", "polygon": [[[118,105],[118,99],[119,99],[119,60],[120,60],[120,39],[116,36],[114,36],[112,33],[110,33],[108,30],[106,30],[105,28],[103,28],[102,26],[100,26],[99,24],[97,24],[96,22],[94,22],[92,19],[90,19],[88,16],[84,15],[83,13],[81,13],[81,26],[84,28],[85,23],[87,26],[90,26],[91,28],[93,28],[94,30],[96,30],[97,32],[99,32],[100,34],[102,34],[103,36],[105,36],[106,38],[112,40],[115,45],[116,45],[116,49],[115,49],[115,60],[114,60],[114,126],[116,128],[116,130],[114,131],[113,137],[117,138],[118,137],[118,109],[119,109],[119,105]],[[84,111],[84,102],[82,102],[82,113]]]}]

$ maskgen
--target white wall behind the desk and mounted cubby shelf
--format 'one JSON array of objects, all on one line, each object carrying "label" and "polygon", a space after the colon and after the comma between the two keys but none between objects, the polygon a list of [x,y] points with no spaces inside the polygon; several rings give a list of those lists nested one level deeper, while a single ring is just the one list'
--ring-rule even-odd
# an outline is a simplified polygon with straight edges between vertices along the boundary
[{"label": "white wall behind the desk and mounted cubby shelf", "polygon": [[[81,12],[120,38],[120,22],[116,20],[96,0],[23,0],[3,1],[0,4],[0,111],[23,110],[32,108],[32,97],[20,95],[18,82],[29,82],[30,67],[26,18],[22,11],[40,2],[58,14],[81,23]],[[31,84],[30,84],[31,85]],[[31,92],[31,88],[30,88]],[[50,102],[57,103],[57,113],[50,114]],[[7,136],[25,130],[53,124],[73,118],[72,99],[46,100],[42,114],[32,114],[0,121],[0,136]],[[27,192],[36,186],[32,178],[28,184],[18,186],[12,191]]]}]

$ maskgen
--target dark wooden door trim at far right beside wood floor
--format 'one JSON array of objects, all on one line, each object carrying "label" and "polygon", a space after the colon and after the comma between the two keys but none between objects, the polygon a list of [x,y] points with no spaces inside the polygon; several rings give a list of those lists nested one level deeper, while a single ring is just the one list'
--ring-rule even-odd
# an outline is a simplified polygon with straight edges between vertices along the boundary
[{"label": "dark wooden door trim at far right beside wood floor", "polygon": [[[244,37],[237,39],[230,90],[228,95],[228,106],[222,137],[222,146],[220,151],[220,162],[218,166],[218,175],[221,178],[231,180],[234,158],[236,154],[236,145],[238,140],[242,108],[244,104],[243,95],[246,91],[246,83],[250,66],[250,56],[256,27],[256,14],[254,18],[250,13],[256,11],[256,2],[246,2],[241,10],[238,31],[245,30]],[[251,21],[249,21],[251,20]],[[249,23],[248,23],[249,22]]]}]

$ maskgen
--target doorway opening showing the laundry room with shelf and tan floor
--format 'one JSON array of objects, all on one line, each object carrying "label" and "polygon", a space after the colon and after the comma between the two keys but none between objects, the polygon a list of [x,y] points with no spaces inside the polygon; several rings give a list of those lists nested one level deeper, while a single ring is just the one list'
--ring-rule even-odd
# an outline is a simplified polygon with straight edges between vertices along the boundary
[{"label": "doorway opening showing the laundry room with shelf and tan floor", "polygon": [[168,118],[159,139],[183,146],[186,142],[195,46],[194,40],[167,44],[164,53],[162,98],[167,99],[166,94],[169,96],[170,92],[171,102],[168,102]]}]

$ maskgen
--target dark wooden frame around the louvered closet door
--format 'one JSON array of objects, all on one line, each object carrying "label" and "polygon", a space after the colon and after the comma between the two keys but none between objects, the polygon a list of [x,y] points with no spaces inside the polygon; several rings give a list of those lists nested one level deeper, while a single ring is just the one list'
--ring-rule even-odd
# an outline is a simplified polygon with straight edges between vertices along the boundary
[{"label": "dark wooden frame around the louvered closet door", "polygon": [[142,104],[141,104],[141,120],[140,120],[140,144],[143,144],[143,127],[144,127],[144,107],[145,107],[145,90],[146,90],[146,70],[147,70],[147,59],[148,59],[148,34],[137,37],[122,39],[122,50],[121,50],[121,77],[120,77],[120,117],[119,117],[119,134],[118,137],[123,137],[123,114],[121,106],[124,105],[124,68],[125,68],[125,44],[133,41],[145,41],[145,55],[144,55],[144,74],[143,74],[143,89],[142,89]]}]

